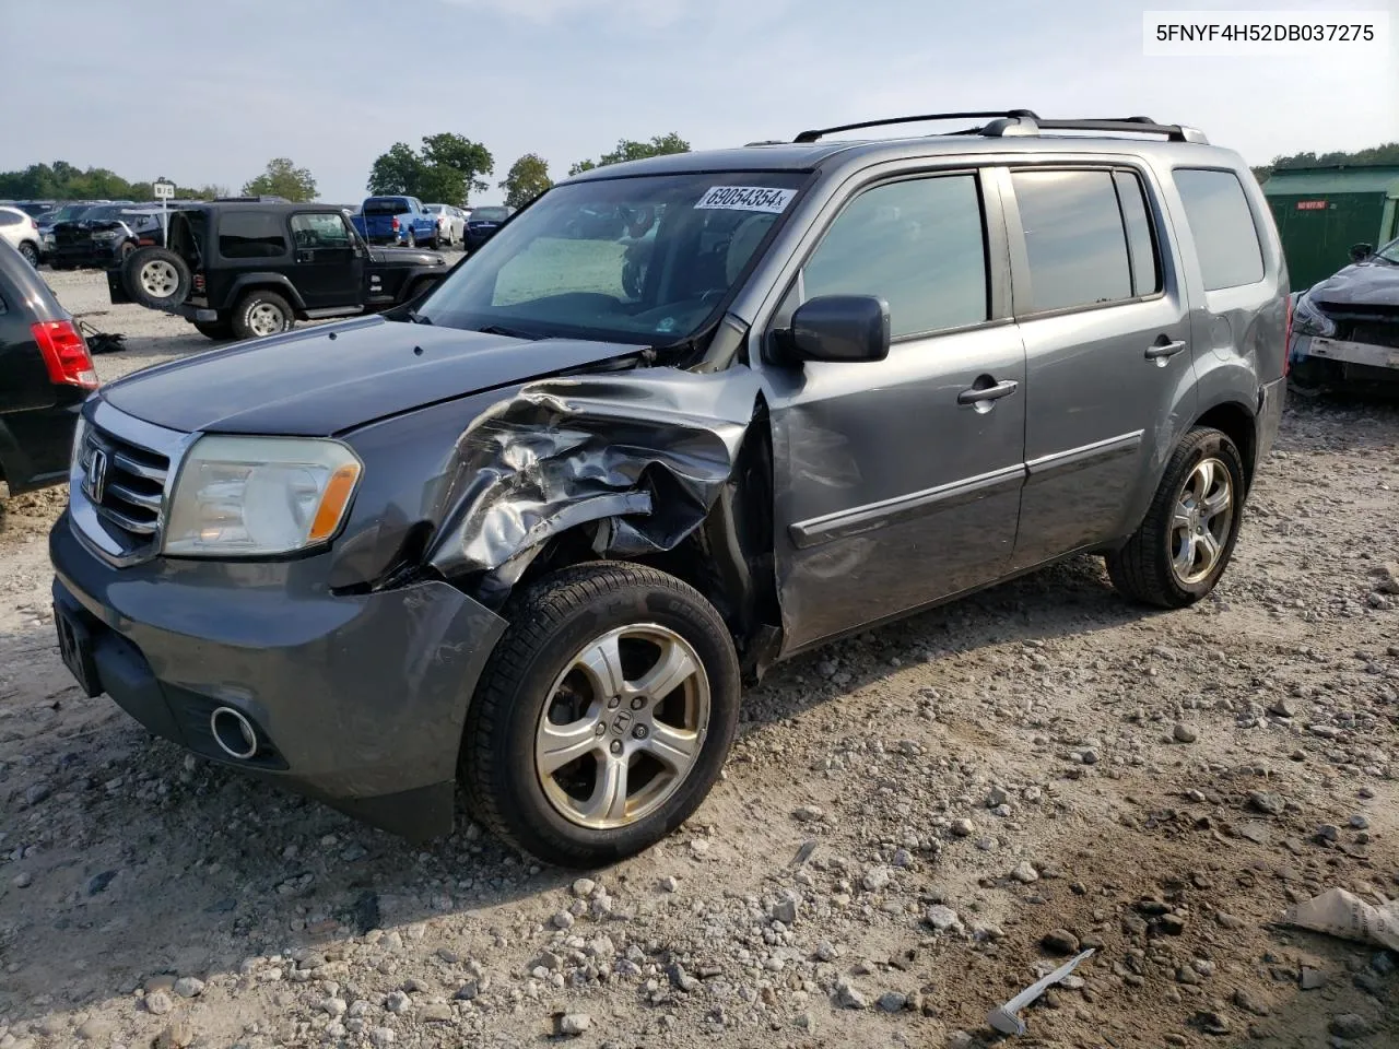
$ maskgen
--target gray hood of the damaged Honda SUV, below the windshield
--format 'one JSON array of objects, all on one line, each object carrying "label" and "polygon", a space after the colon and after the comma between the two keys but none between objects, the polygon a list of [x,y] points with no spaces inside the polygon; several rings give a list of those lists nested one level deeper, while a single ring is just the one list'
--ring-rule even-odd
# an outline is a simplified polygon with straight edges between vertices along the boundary
[{"label": "gray hood of the damaged Honda SUV, below the windshield", "polygon": [[637,351],[364,317],[172,361],[112,383],[102,396],[185,432],[329,436]]}]

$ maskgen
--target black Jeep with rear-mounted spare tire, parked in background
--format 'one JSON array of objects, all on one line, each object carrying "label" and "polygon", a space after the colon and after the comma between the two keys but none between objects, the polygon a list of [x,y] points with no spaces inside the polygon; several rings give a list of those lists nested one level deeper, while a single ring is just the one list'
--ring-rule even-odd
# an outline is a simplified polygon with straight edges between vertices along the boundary
[{"label": "black Jeep with rear-mounted spare tire, parked in background", "polygon": [[253,338],[376,313],[446,271],[434,252],[371,249],[332,204],[224,201],[172,213],[168,245],[133,252],[106,283],[113,304],[179,313],[210,338]]}]

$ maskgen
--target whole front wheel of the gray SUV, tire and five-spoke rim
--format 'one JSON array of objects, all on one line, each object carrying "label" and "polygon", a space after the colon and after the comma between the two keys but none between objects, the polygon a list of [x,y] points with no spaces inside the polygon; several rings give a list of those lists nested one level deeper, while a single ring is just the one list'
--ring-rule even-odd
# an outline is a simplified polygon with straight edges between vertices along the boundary
[{"label": "whole front wheel of the gray SUV, tire and five-spoke rim", "polygon": [[595,562],[512,599],[466,719],[473,811],[540,859],[641,852],[719,778],[739,722],[723,620],[674,576]]}]

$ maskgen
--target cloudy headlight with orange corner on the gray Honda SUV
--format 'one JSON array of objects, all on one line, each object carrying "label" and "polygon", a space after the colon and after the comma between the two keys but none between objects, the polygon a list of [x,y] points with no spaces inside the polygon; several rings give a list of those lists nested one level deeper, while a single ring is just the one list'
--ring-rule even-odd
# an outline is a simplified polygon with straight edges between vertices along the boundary
[{"label": "cloudy headlight with orange corner on the gray Honda SUV", "polygon": [[364,466],[339,441],[203,436],[171,494],[164,552],[290,554],[330,540]]}]

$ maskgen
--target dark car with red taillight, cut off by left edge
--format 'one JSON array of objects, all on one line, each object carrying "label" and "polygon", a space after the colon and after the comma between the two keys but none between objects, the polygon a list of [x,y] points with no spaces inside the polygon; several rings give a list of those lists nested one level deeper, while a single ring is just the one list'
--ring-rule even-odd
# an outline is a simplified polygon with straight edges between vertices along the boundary
[{"label": "dark car with red taillight, cut off by left edge", "polygon": [[73,317],[0,241],[0,481],[11,495],[67,480],[73,428],[94,389]]}]

